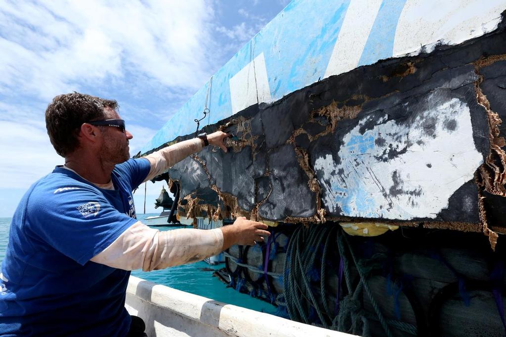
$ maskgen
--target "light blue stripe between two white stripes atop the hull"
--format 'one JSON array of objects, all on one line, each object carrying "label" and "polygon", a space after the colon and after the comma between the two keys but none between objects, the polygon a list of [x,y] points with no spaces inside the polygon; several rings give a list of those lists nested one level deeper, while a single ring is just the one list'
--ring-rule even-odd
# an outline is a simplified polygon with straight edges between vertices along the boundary
[{"label": "light blue stripe between two white stripes atop the hull", "polygon": [[393,56],[397,23],[406,0],[383,0],[358,65],[373,64]]}]

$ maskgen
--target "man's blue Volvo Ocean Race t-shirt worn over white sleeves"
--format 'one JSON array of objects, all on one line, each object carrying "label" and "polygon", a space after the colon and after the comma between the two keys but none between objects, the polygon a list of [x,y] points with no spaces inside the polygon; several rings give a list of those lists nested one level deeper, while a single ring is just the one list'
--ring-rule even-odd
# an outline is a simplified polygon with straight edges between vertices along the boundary
[{"label": "man's blue Volvo Ocean Race t-shirt worn over white sleeves", "polygon": [[147,159],[115,166],[115,190],[63,167],[33,184],[13,216],[0,274],[2,336],[124,336],[130,272],[91,262],[137,220]]}]

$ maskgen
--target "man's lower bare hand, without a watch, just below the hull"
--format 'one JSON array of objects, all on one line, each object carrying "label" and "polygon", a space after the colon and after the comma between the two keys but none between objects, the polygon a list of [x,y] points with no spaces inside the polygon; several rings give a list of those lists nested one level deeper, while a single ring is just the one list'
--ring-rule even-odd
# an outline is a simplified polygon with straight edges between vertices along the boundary
[{"label": "man's lower bare hand, without a watch, just below the hull", "polygon": [[223,250],[234,244],[254,245],[255,242],[264,241],[264,236],[271,233],[266,231],[268,226],[261,222],[246,220],[245,217],[239,217],[233,225],[223,226]]}]

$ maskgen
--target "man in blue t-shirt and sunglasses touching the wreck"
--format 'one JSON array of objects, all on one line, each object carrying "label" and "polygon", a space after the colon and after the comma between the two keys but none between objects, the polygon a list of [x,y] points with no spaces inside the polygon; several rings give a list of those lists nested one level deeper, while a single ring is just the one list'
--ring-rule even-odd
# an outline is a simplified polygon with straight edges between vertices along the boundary
[{"label": "man in blue t-shirt and sunglasses touching the wreck", "polygon": [[1,335],[133,335],[124,308],[130,270],[199,261],[269,235],[245,218],[207,231],[159,232],[137,221],[132,190],[207,142],[226,151],[227,134],[129,159],[132,135],[119,118],[116,101],[79,93],[48,106],[48,134],[65,165],[30,187],[12,219],[0,274]]}]

